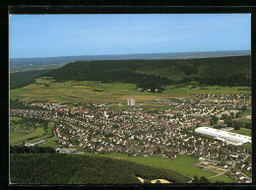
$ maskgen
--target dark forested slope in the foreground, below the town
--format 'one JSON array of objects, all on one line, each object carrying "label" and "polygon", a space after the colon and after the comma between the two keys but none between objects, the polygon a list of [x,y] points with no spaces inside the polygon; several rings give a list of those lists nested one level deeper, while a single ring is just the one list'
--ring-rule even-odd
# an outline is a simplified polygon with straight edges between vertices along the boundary
[{"label": "dark forested slope in the foreground, below the town", "polygon": [[170,170],[131,161],[62,154],[10,154],[10,178],[18,184],[140,184],[144,179],[186,183]]}]

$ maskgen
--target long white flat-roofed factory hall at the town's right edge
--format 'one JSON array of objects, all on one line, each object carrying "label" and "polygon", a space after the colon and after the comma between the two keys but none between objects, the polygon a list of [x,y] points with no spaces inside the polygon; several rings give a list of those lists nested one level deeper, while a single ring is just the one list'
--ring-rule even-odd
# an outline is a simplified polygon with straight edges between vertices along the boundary
[{"label": "long white flat-roofed factory hall at the town's right edge", "polygon": [[195,129],[195,131],[200,134],[215,137],[218,140],[235,146],[240,146],[244,143],[251,143],[251,137],[249,136],[214,129],[211,127],[198,127]]}]

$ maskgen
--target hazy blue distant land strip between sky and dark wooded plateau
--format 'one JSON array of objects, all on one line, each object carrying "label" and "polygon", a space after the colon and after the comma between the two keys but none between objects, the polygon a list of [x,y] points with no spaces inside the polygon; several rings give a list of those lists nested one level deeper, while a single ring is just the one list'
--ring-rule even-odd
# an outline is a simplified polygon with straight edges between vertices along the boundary
[{"label": "hazy blue distant land strip between sky and dark wooded plateau", "polygon": [[11,72],[32,68],[58,68],[64,64],[77,60],[133,60],[133,59],[194,59],[210,57],[226,57],[250,55],[250,50],[232,51],[204,51],[204,52],[172,52],[172,53],[139,53],[117,55],[82,55],[82,56],[59,56],[38,58],[11,58]]}]

